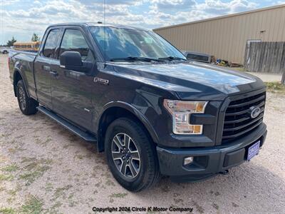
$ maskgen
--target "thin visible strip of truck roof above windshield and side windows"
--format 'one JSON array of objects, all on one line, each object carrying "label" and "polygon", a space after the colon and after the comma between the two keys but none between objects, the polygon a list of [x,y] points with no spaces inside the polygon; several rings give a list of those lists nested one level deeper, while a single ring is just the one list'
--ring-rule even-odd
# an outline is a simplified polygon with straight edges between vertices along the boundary
[{"label": "thin visible strip of truck roof above windshield and side windows", "polygon": [[121,29],[137,29],[137,30],[143,30],[143,31],[149,31],[147,29],[142,29],[134,26],[128,26],[123,24],[103,24],[100,22],[70,22],[70,23],[60,23],[60,24],[51,24],[48,27],[51,26],[109,26],[114,28],[121,28]]}]

